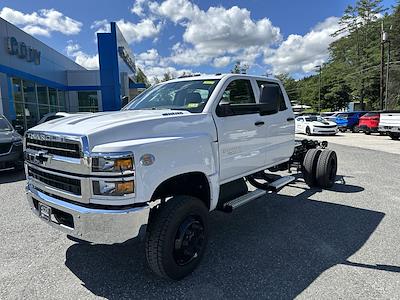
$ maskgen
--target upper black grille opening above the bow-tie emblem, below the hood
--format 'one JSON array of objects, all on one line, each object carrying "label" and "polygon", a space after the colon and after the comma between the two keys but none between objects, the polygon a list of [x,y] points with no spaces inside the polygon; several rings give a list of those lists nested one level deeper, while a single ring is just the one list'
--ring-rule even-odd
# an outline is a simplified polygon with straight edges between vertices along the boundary
[{"label": "upper black grille opening above the bow-tie emblem, below the hood", "polygon": [[65,142],[65,141],[55,141],[51,139],[35,139],[27,136],[26,138],[26,148],[36,151],[46,151],[48,154],[71,157],[71,158],[81,158],[82,153],[80,149],[79,142]]}]

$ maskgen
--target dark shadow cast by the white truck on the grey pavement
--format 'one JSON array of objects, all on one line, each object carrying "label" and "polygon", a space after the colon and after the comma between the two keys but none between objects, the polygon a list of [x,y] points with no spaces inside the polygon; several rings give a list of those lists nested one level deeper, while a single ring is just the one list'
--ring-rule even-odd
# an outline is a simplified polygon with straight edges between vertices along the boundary
[{"label": "dark shadow cast by the white truck on the grey pavement", "polygon": [[[340,184],[334,189],[363,190]],[[347,261],[375,231],[383,213],[310,200],[315,192],[269,195],[232,214],[213,213],[205,258],[179,282],[152,275],[139,240],[112,246],[76,243],[67,250],[65,264],[87,289],[108,299],[293,299],[337,264],[399,271]]]}]

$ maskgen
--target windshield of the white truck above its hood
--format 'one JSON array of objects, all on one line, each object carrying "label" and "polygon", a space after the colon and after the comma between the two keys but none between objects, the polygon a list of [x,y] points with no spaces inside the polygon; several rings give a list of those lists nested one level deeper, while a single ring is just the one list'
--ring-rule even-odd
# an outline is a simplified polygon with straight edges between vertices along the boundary
[{"label": "windshield of the white truck above its hood", "polygon": [[123,110],[176,109],[202,112],[219,80],[190,80],[156,85],[126,105]]}]

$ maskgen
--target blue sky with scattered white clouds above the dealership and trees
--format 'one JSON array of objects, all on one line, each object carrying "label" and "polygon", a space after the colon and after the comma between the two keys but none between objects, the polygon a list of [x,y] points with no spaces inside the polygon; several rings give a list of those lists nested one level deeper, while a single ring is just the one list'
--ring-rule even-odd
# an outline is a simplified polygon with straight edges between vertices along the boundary
[{"label": "blue sky with scattered white clouds above the dealership and trees", "polygon": [[[390,7],[395,0],[384,0]],[[166,71],[313,72],[350,0],[1,0],[0,16],[83,66],[98,67],[95,32],[116,21],[138,65],[153,78]]]}]

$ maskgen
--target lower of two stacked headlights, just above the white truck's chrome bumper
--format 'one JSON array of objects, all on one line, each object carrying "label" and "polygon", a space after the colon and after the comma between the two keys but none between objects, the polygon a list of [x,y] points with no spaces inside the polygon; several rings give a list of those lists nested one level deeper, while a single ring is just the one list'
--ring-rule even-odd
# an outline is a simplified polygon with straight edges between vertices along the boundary
[{"label": "lower of two stacked headlights, just above the white truck's chrome bumper", "polygon": [[93,181],[93,193],[101,196],[124,196],[133,194],[135,191],[135,182],[128,181]]}]

